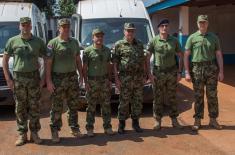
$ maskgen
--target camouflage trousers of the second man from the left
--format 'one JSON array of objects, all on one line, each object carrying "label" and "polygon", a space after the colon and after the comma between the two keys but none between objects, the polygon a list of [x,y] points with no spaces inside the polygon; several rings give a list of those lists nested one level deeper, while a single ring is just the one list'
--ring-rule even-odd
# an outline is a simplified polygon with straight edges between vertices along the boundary
[{"label": "camouflage trousers of the second man from the left", "polygon": [[50,112],[50,127],[52,131],[60,131],[62,127],[63,103],[67,101],[68,125],[73,130],[78,130],[79,83],[76,72],[52,73],[55,86],[51,95],[52,107]]}]

